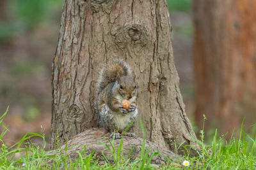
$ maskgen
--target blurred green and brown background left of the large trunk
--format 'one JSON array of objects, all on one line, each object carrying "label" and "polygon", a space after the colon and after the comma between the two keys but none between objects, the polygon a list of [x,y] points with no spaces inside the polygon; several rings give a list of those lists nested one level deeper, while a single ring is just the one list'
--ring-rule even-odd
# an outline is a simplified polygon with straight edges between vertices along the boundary
[{"label": "blurred green and brown background left of the large trunk", "polygon": [[[61,0],[0,1],[0,113],[6,143],[51,127],[51,62],[56,50]],[[34,138],[34,142],[42,139]]]}]

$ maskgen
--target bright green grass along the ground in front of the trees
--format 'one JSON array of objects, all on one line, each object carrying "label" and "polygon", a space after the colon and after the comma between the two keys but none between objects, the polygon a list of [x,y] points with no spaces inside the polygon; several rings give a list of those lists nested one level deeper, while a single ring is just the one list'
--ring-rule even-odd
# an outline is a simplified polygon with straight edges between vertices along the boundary
[{"label": "bright green grass along the ground in front of the trees", "polygon": [[[204,131],[201,132],[200,143],[202,153],[197,157],[189,157],[186,152],[184,159],[189,161],[189,166],[185,167],[180,164],[174,164],[170,160],[162,166],[151,164],[152,157],[160,154],[155,152],[149,155],[149,149],[145,148],[145,140],[141,146],[141,154],[136,160],[126,160],[123,155],[123,139],[120,145],[113,145],[113,139],[109,139],[110,146],[106,144],[106,150],[111,151],[114,159],[114,164],[109,162],[105,156],[104,162],[99,162],[95,159],[95,155],[90,153],[85,155],[86,146],[81,152],[77,152],[79,157],[77,160],[70,160],[67,154],[67,147],[61,155],[47,155],[51,151],[45,151],[44,134],[28,133],[18,143],[13,146],[6,146],[3,137],[8,131],[3,124],[3,119],[8,110],[0,117],[0,124],[4,131],[0,135],[0,169],[256,169],[256,139],[252,138],[243,130],[241,125],[240,136],[238,139],[232,138],[230,141],[225,141],[223,138],[217,138],[218,131],[215,131],[212,137],[211,145],[204,145]],[[143,137],[145,131],[141,123]],[[35,146],[29,142],[34,137],[42,138],[43,146]],[[190,146],[181,146],[185,150],[189,150]],[[61,150],[60,147],[55,151]],[[20,153],[19,159],[14,159],[15,153]],[[102,151],[104,155],[104,151]],[[51,164],[47,161],[52,159]],[[68,162],[70,164],[68,165]]]}]

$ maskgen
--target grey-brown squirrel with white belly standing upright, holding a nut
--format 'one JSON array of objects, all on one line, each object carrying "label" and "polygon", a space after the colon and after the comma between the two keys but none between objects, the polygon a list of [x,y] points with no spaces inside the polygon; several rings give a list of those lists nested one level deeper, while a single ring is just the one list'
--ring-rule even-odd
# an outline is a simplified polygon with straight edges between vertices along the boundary
[{"label": "grey-brown squirrel with white belly standing upright, holding a nut", "polygon": [[[99,124],[111,132],[110,138],[121,138],[122,132],[138,116],[138,90],[134,80],[135,76],[131,77],[130,67],[124,60],[115,60],[112,65],[104,66],[99,74],[96,104]],[[130,103],[127,108],[122,106],[125,99]],[[136,137],[134,133],[124,135]]]}]

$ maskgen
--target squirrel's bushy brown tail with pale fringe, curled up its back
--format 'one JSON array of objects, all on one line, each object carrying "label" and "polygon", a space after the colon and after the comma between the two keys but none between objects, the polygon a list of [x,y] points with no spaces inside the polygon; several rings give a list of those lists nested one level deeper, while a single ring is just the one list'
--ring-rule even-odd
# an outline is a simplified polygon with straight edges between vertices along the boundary
[{"label": "squirrel's bushy brown tail with pale fringe, curled up its back", "polygon": [[124,60],[114,60],[113,64],[102,68],[97,82],[99,92],[109,83],[116,81],[116,73],[119,73],[120,76],[129,76],[130,67]]}]

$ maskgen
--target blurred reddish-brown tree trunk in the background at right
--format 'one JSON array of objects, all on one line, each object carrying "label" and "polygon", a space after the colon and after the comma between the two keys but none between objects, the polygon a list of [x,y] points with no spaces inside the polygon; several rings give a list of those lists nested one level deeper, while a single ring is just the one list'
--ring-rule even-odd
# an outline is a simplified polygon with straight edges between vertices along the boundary
[{"label": "blurred reddish-brown tree trunk in the background at right", "polygon": [[255,123],[256,0],[195,0],[195,119],[232,133]]}]

